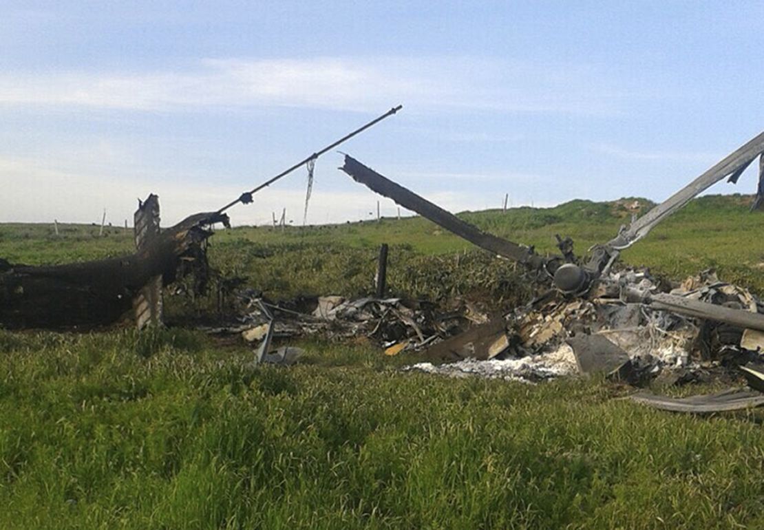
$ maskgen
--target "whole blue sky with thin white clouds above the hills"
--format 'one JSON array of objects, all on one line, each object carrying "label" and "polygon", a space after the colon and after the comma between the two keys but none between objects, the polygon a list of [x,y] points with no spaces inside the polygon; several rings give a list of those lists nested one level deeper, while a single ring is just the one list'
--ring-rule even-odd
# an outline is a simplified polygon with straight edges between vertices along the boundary
[{"label": "whole blue sky with thin white clouds above the hills", "polygon": [[[762,130],[762,2],[0,2],[0,221],[169,224],[340,147],[454,211],[662,200]],[[377,197],[316,165],[308,222]],[[753,192],[749,172],[737,186]],[[303,221],[306,172],[229,212]],[[382,201],[384,215],[396,208]]]}]

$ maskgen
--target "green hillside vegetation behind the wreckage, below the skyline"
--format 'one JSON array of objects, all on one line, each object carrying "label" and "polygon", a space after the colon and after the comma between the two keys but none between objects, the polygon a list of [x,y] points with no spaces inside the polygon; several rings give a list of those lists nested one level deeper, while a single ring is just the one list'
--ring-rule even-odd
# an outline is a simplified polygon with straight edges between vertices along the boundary
[{"label": "green hillside vegetation behind the wreckage, below the skyline", "polygon": [[[629,221],[623,204],[571,201],[555,208],[512,208],[508,212],[466,212],[466,220],[494,234],[555,252],[555,234],[575,241],[578,254],[613,238]],[[637,199],[642,210],[651,205]],[[653,230],[623,253],[623,261],[681,280],[714,267],[724,280],[764,293],[764,212],[749,212],[750,196],[706,196]],[[232,212],[234,216],[236,212]],[[127,254],[132,231],[60,225],[0,225],[0,257],[11,263],[66,263]],[[211,240],[210,260],[225,275],[274,298],[298,294],[360,296],[371,288],[380,244],[390,244],[390,287],[401,296],[437,299],[478,290],[507,296],[521,289],[513,263],[487,256],[426,219],[383,219],[347,225],[293,228],[241,227],[221,230]],[[459,256],[459,257],[458,257]],[[471,265],[470,265],[471,263]],[[468,267],[465,268],[465,264]],[[508,286],[511,288],[508,289]]]}]

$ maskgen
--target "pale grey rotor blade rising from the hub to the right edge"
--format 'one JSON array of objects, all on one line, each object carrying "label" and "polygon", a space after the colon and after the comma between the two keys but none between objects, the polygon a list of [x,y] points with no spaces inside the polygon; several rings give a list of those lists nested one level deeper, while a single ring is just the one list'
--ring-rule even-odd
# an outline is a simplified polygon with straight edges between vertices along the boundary
[{"label": "pale grey rotor blade rising from the hub to the right edge", "polygon": [[732,175],[736,180],[737,176],[744,170],[757,156],[764,152],[764,133],[753,138],[747,144],[740,147],[733,154],[721,160],[715,166],[711,167],[697,179],[694,179],[684,188],[680,189],[674,195],[666,199],[662,204],[652,208],[645,215],[634,221],[629,228],[621,231],[616,238],[609,241],[607,246],[616,250],[622,250],[630,247],[636,241],[644,238],[660,221],[669,217],[679,208],[686,205],[703,192],[705,189],[724,179],[725,176]]}]

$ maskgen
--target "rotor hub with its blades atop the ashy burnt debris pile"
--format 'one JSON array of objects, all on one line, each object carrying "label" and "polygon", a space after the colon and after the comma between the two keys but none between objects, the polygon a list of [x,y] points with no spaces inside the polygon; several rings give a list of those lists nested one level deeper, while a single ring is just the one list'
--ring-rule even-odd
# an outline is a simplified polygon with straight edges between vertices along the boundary
[{"label": "rotor hub with its blades atop the ashy burnt debris pile", "polygon": [[[570,238],[558,236],[561,254],[544,257],[532,247],[487,234],[352,157],[345,156],[340,169],[478,247],[520,263],[543,289],[529,305],[503,315],[500,325],[488,322],[483,333],[474,329],[429,348],[434,360],[458,360],[456,364],[422,363],[413,369],[455,376],[482,370],[488,376],[504,376],[501,368],[506,366],[509,378],[528,373],[555,376],[575,370],[637,383],[666,364],[685,367],[692,350],[703,360],[736,356],[743,363],[754,361],[742,367],[753,390],[696,396],[689,401],[651,394],[633,396],[667,410],[719,412],[764,405],[764,370],[756,362],[764,351],[764,304],[747,289],[720,282],[711,271],[665,292],[649,271],[618,267],[617,260],[622,250],[714,183],[725,177],[736,183],[757,157],[759,184],[752,210],[758,208],[764,202],[762,152],[764,133],[646,215],[622,226],[612,240],[594,245],[587,258],[575,256]],[[475,362],[500,356],[509,362]]]}]

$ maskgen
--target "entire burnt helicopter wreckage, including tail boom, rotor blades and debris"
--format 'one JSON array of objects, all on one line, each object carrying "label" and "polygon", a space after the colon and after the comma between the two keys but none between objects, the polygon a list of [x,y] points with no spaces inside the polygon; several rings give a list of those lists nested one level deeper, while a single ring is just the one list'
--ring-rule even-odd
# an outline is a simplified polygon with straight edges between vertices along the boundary
[{"label": "entire burnt helicopter wreckage, including tail boom, rotor blades and debris", "polygon": [[[158,227],[156,196],[150,196],[136,212],[138,250],[130,256],[49,267],[0,260],[0,325],[108,325],[128,313],[139,327],[160,324],[163,286],[193,272],[197,288],[204,288],[209,276],[206,241],[212,235],[207,227],[219,222],[228,225],[228,216],[223,213],[226,208],[251,202],[258,189],[315,161],[319,154],[399,109],[391,109],[264,185],[243,193],[218,212],[192,215],[165,231]],[[210,331],[241,331],[246,340],[259,344],[258,360],[274,356],[269,354],[272,338],[366,334],[383,344],[387,354],[419,351],[433,361],[415,364],[411,370],[523,380],[606,373],[639,383],[656,376],[663,367],[678,369],[673,370],[673,376],[681,379],[697,376],[697,370],[689,375],[681,372],[695,362],[690,360],[690,353],[701,364],[724,363],[735,357],[734,364],[749,363],[741,368],[754,390],[696,396],[698,399],[690,402],[650,394],[637,394],[633,399],[686,412],[764,405],[764,370],[756,364],[764,351],[764,304],[759,299],[709,271],[667,287],[649,271],[624,267],[618,261],[622,250],[636,244],[714,183],[724,178],[736,183],[756,158],[759,183],[752,209],[758,208],[764,202],[762,153],[764,133],[665,202],[622,226],[615,238],[594,245],[587,257],[574,254],[570,238],[558,237],[560,254],[542,256],[533,247],[488,234],[345,155],[340,169],[352,179],[472,244],[518,263],[536,286],[538,296],[528,305],[499,315],[475,316],[474,311],[470,315],[471,308],[462,306],[458,315],[461,325],[453,325],[453,314],[439,314],[421,301],[324,297],[307,310],[295,310],[269,304],[258,296],[244,296],[247,305],[240,325]]]}]

